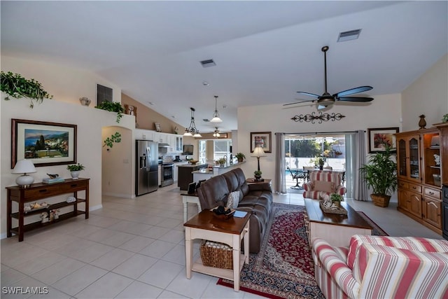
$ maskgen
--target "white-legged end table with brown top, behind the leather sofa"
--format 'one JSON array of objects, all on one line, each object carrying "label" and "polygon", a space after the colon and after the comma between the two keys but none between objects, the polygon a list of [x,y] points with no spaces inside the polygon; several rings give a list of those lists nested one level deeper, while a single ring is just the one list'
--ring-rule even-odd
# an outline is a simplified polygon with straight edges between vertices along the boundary
[{"label": "white-legged end table with brown top, behind the leather sofa", "polygon": [[[187,278],[191,278],[192,270],[233,281],[233,288],[239,291],[239,276],[244,263],[249,262],[249,218],[232,217],[227,220],[218,219],[208,209],[193,216],[183,224],[185,226],[185,253]],[[228,244],[233,249],[233,269],[208,267],[199,258],[193,263],[193,239],[207,239]],[[244,239],[244,254],[241,254],[241,240]]]}]

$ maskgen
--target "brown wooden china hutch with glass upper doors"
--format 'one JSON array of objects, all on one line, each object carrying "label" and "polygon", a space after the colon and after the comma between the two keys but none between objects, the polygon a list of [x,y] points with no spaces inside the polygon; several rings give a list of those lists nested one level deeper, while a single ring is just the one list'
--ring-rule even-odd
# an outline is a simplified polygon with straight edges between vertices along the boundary
[{"label": "brown wooden china hutch with glass upper doors", "polygon": [[[442,235],[440,130],[395,134],[397,139],[398,211]],[[436,142],[437,141],[437,142]],[[437,144],[436,144],[437,143]]]}]

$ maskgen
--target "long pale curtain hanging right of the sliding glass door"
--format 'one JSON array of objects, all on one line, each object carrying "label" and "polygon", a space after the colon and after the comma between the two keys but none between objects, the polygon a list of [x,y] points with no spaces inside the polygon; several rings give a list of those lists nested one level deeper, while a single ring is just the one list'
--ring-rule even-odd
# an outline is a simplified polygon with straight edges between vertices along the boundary
[{"label": "long pale curtain hanging right of the sliding glass door", "polygon": [[367,196],[367,185],[365,184],[365,181],[360,176],[359,168],[363,166],[366,162],[365,160],[365,132],[363,130],[358,130],[358,133],[356,134],[355,138],[356,142],[356,148],[357,151],[353,151],[353,154],[355,154],[355,159],[353,168],[356,169],[355,172],[353,172],[353,181],[355,182],[354,186],[354,200],[360,200],[363,202],[369,201],[369,197]]}]

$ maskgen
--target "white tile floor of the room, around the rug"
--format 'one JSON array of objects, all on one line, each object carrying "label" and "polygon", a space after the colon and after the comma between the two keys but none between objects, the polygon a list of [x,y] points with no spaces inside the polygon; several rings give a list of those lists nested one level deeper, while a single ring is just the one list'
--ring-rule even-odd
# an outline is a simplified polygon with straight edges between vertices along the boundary
[{"label": "white tile floor of the room, around the rug", "polygon": [[[274,195],[274,202],[303,204],[303,197]],[[394,203],[348,202],[389,235],[441,238]],[[189,204],[189,216],[196,212]],[[88,220],[78,216],[27,232],[24,242],[2,239],[1,286],[48,287],[48,294],[1,298],[261,298],[217,286],[205,274],[186,279],[182,219],[180,191],[172,185],[135,200],[103,197],[103,208]]]}]

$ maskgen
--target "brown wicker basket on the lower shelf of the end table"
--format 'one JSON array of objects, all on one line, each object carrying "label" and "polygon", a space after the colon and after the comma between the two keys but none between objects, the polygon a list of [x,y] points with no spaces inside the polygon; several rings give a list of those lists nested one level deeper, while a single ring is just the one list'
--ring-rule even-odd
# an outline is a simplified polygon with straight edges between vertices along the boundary
[{"label": "brown wicker basket on the lower shelf of the end table", "polygon": [[233,269],[233,250],[227,244],[202,240],[200,253],[204,266]]}]

